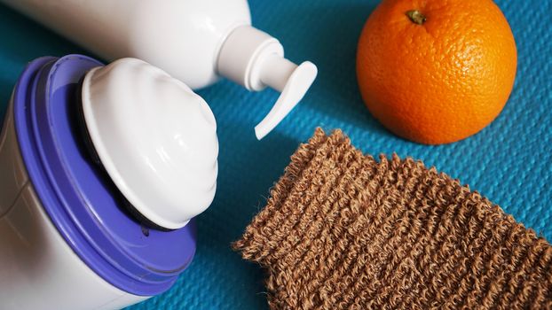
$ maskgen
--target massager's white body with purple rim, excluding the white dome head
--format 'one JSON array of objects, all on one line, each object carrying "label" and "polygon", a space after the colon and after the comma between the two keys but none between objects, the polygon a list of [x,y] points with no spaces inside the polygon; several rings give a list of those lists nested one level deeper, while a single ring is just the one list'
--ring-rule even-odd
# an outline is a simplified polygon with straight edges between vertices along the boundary
[{"label": "massager's white body with purple rim, excluding the white dome head", "polygon": [[167,291],[193,259],[180,229],[137,220],[79,129],[79,88],[99,61],[37,58],[0,136],[0,308],[116,309]]}]

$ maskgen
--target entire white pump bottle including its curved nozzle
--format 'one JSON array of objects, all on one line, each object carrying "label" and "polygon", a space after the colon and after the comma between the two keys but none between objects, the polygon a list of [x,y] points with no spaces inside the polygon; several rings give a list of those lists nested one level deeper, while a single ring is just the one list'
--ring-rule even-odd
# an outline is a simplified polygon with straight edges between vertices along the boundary
[{"label": "entire white pump bottle including its curved nozzle", "polygon": [[261,139],[304,97],[311,62],[284,58],[282,45],[251,27],[246,0],[0,0],[108,60],[134,57],[192,89],[224,76],[248,90],[281,92],[256,126]]}]

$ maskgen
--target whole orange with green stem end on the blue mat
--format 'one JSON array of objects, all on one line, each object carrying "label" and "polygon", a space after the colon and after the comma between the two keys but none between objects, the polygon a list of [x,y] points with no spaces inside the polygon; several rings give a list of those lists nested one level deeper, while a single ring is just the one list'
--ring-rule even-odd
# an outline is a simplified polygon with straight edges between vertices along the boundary
[{"label": "whole orange with green stem end on the blue mat", "polygon": [[492,0],[383,0],[357,52],[368,110],[396,135],[427,144],[491,123],[516,69],[514,35]]}]

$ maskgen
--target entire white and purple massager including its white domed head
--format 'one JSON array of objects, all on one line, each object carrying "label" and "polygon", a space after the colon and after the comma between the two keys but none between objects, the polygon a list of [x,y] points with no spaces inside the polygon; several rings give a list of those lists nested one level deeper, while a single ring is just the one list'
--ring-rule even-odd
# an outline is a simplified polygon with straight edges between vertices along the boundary
[{"label": "entire white and purple massager including its white domed head", "polygon": [[141,60],[30,62],[0,135],[0,309],[167,291],[215,195],[216,129],[201,97]]}]

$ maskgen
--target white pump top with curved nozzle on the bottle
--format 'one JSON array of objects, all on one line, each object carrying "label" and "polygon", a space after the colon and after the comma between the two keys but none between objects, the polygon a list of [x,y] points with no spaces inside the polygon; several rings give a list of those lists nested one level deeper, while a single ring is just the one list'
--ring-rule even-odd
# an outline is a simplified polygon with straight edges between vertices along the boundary
[{"label": "white pump top with curved nozzle on the bottle", "polygon": [[237,27],[228,35],[218,55],[217,71],[249,90],[270,86],[281,92],[272,110],[256,125],[259,140],[299,103],[318,73],[310,61],[297,66],[284,58],[278,40],[250,26]]}]

